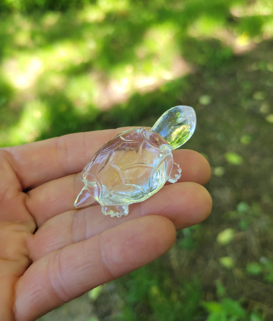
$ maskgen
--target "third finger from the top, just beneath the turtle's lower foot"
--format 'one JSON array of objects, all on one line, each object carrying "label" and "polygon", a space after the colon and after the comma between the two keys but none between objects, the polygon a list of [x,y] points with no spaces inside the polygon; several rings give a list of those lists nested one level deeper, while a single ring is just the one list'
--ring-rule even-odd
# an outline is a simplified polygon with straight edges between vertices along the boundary
[{"label": "third finger from the top, just beneath the turtle's lower foot", "polygon": [[101,213],[100,205],[68,211],[52,217],[37,230],[29,240],[30,256],[36,260],[140,216],[165,216],[172,220],[178,230],[200,223],[211,212],[211,207],[211,197],[204,187],[184,182],[164,186],[151,198],[133,204],[128,216],[105,216]]}]

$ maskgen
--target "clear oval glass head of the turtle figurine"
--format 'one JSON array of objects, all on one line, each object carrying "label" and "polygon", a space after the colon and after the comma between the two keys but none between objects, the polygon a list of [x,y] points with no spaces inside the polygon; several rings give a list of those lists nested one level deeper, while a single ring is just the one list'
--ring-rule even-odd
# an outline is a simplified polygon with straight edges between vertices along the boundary
[{"label": "clear oval glass head of the turtle figurine", "polygon": [[189,106],[176,106],[164,112],[151,130],[160,134],[176,149],[192,137],[195,127],[194,109]]}]

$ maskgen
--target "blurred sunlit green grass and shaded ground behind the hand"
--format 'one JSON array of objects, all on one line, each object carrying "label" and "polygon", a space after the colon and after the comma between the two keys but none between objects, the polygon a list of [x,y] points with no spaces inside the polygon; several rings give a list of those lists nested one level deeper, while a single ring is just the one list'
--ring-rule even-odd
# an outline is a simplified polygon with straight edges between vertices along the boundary
[{"label": "blurred sunlit green grass and shaded ground behind the hand", "polygon": [[2,147],[190,105],[212,166],[204,223],[40,321],[272,320],[272,101],[271,0],[2,0]]}]

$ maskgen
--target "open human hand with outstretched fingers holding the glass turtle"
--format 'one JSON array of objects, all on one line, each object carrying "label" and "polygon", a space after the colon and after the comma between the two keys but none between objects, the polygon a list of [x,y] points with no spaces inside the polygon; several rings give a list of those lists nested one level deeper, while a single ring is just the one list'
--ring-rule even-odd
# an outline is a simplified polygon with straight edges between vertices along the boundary
[{"label": "open human hand with outstretched fingers holding the glass turtle", "polygon": [[96,204],[75,210],[81,169],[122,130],[0,149],[0,320],[35,320],[148,264],[170,249],[176,230],[211,212],[202,186],[211,170],[186,149],[173,152],[179,182],[131,205],[128,216],[104,216]]}]

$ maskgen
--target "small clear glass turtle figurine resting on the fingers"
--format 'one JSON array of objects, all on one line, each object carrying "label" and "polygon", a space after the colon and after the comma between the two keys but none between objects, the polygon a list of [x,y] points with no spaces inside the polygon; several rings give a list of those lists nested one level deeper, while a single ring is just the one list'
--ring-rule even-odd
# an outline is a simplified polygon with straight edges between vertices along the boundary
[{"label": "small clear glass turtle figurine resting on the fingers", "polygon": [[151,130],[125,130],[104,144],[82,170],[84,187],[76,208],[98,202],[103,214],[120,217],[129,205],[142,202],[169,181],[176,183],[181,169],[172,150],[193,135],[196,114],[192,107],[167,110]]}]

